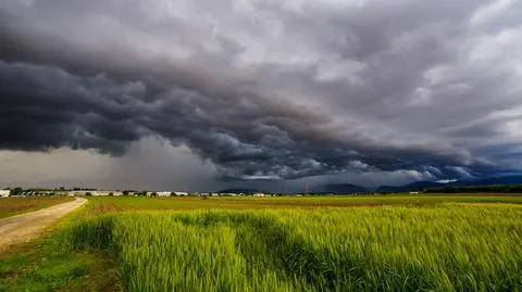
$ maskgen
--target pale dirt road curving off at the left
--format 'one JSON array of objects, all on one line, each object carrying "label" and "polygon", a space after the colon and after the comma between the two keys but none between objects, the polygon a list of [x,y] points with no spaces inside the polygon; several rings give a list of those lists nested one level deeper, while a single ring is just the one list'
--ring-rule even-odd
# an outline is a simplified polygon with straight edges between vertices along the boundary
[{"label": "pale dirt road curving off at the left", "polygon": [[76,198],[73,202],[0,219],[0,252],[12,244],[38,237],[50,224],[86,202],[85,199]]}]

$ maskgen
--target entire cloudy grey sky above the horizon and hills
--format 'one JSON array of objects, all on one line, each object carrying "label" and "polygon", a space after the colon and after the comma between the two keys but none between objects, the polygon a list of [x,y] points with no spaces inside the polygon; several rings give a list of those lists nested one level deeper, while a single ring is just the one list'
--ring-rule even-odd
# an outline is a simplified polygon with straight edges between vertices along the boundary
[{"label": "entire cloudy grey sky above the horizon and hills", "polygon": [[0,186],[522,167],[522,0],[2,0]]}]

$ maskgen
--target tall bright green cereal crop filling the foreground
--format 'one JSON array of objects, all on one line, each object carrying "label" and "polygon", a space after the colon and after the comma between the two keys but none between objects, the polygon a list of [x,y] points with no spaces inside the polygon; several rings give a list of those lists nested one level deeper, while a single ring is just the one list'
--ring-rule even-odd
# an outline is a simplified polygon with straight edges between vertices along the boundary
[{"label": "tall bright green cereal crop filling the foreground", "polygon": [[521,219],[510,204],[144,212],[65,237],[113,256],[126,291],[518,291]]}]

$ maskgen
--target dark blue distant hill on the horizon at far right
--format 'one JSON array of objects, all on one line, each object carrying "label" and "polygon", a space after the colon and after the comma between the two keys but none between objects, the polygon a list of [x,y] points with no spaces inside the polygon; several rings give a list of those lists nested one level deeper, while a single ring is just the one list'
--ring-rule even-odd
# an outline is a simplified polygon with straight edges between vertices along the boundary
[{"label": "dark blue distant hill on the horizon at far right", "polygon": [[402,186],[381,186],[377,192],[410,192],[422,191],[426,189],[451,188],[451,187],[478,187],[478,186],[495,186],[495,185],[522,185],[522,176],[502,176],[488,177],[481,179],[462,179],[451,182],[436,182],[436,181],[415,181]]}]

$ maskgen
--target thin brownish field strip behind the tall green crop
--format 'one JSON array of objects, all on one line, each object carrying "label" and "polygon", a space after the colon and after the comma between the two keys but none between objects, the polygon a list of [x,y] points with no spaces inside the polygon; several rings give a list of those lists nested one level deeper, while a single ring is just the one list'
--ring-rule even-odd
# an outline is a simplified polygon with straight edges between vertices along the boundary
[{"label": "thin brownish field strip behind the tall green crop", "polygon": [[360,206],[426,206],[447,202],[460,203],[522,203],[522,195],[495,194],[430,194],[430,195],[338,195],[338,196],[211,196],[211,198],[144,198],[98,196],[89,199],[88,216],[114,212],[212,210],[212,208],[318,208]]}]

